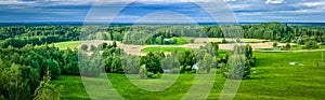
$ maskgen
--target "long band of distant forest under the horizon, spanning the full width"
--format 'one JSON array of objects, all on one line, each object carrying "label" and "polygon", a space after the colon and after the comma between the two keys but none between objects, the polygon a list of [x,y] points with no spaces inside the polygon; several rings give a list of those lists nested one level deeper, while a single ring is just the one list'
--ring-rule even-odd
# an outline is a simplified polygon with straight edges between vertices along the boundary
[{"label": "long band of distant forest under the horizon, spanning the full width", "polygon": [[[224,28],[239,28],[242,34],[229,35]],[[83,29],[83,30],[82,30]],[[2,26],[0,27],[0,46],[23,47],[26,44],[41,45],[63,41],[78,41],[80,33],[87,39],[103,39],[122,41],[125,43],[145,38],[145,44],[155,44],[157,39],[173,37],[208,37],[208,38],[246,38],[264,39],[282,43],[304,44],[308,41],[323,43],[325,41],[324,26],[294,26],[280,23],[245,24],[238,26]],[[84,32],[86,33],[86,32]],[[230,32],[231,34],[231,32]],[[100,38],[99,38],[100,37]]]}]

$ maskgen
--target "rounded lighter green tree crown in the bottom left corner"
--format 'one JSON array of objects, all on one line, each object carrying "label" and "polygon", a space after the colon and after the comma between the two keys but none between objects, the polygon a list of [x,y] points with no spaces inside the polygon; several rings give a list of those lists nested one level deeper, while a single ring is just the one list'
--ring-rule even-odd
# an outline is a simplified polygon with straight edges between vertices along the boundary
[{"label": "rounded lighter green tree crown in the bottom left corner", "polygon": [[12,65],[0,67],[0,94],[9,100],[31,99],[38,84],[39,75],[30,67]]}]

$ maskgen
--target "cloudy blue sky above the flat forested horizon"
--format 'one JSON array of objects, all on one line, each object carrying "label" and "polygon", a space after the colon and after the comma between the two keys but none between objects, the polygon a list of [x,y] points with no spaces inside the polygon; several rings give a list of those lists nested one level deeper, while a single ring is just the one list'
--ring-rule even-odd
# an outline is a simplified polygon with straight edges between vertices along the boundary
[{"label": "cloudy blue sky above the flat forested horizon", "polygon": [[[107,17],[113,17],[119,23],[191,19],[213,22],[205,9],[193,3],[209,4],[213,0],[135,0],[128,5],[127,1],[0,0],[0,23],[84,22],[88,17],[92,17],[94,22],[105,22],[110,19]],[[222,2],[240,23],[325,23],[325,0],[222,0]],[[113,11],[122,5],[126,8],[115,15],[116,12]],[[96,12],[98,15],[89,16],[90,12]]]}]

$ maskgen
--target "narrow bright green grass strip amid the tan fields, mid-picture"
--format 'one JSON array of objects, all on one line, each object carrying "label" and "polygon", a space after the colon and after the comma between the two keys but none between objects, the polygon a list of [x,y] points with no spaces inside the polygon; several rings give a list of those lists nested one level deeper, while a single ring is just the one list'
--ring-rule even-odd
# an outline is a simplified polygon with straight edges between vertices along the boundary
[{"label": "narrow bright green grass strip amid the tan fields, mid-picture", "polygon": [[185,47],[174,47],[174,46],[159,46],[159,47],[146,47],[141,49],[143,53],[150,53],[150,52],[171,52],[172,49],[178,49],[178,52],[185,52],[190,51],[191,48]]}]

